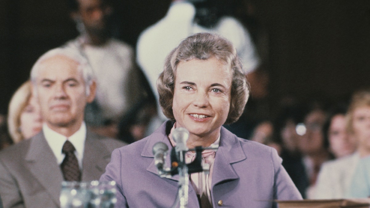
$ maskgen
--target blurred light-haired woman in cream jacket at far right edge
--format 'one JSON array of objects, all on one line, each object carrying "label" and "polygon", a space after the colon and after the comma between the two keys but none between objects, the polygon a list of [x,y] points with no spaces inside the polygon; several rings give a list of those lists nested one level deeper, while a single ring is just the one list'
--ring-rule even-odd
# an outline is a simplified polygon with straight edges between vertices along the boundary
[{"label": "blurred light-haired woman in cream jacket at far right edge", "polygon": [[[356,143],[356,152],[323,165],[319,174],[316,198],[338,199],[360,197],[354,193],[366,185],[366,180],[358,180],[355,172],[360,158],[370,156],[370,91],[361,90],[353,94],[346,115],[346,130]],[[360,184],[354,183],[356,179]],[[362,180],[362,181],[361,181]],[[356,184],[356,186],[354,186]],[[354,187],[354,191],[349,191]],[[368,197],[369,195],[366,195]]]}]

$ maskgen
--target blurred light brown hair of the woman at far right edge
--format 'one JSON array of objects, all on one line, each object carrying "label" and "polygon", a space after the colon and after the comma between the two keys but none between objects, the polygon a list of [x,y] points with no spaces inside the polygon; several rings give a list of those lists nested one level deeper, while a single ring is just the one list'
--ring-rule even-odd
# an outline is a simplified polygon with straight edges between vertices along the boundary
[{"label": "blurred light brown hair of the woman at far right edge", "polygon": [[360,107],[370,107],[370,89],[356,91],[352,95],[346,115],[347,131],[353,133],[353,112]]}]

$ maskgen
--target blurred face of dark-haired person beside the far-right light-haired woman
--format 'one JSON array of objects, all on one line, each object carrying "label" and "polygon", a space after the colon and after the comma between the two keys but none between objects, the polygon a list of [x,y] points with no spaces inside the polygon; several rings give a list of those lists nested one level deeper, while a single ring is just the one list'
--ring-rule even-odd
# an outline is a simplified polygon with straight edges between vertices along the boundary
[{"label": "blurred face of dark-haired person beside the far-right light-haired woman", "polygon": [[346,118],[342,114],[333,116],[329,126],[328,138],[330,151],[336,158],[350,155],[356,149],[356,142],[347,133]]}]

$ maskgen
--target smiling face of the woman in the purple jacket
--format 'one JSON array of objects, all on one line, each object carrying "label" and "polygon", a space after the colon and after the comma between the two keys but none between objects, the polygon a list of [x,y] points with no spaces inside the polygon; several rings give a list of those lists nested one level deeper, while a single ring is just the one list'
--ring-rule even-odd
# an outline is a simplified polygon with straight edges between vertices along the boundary
[{"label": "smiling face of the woman in the purple jacket", "polygon": [[172,110],[179,127],[198,137],[219,134],[229,114],[232,72],[212,57],[180,62]]}]

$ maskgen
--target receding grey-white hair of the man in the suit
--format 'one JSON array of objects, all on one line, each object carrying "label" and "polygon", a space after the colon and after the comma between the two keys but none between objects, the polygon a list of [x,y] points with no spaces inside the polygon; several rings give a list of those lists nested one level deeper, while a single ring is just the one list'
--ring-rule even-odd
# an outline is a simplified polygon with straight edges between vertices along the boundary
[{"label": "receding grey-white hair of the man in the suit", "polygon": [[47,51],[43,55],[41,55],[41,57],[38,58],[36,63],[31,68],[30,76],[31,76],[31,82],[33,83],[33,85],[36,85],[38,70],[40,69],[40,65],[42,64],[42,62],[54,56],[64,56],[78,63],[77,69],[80,70],[80,72],[82,73],[83,79],[85,82],[85,88],[86,88],[85,93],[86,95],[89,95],[90,85],[95,80],[94,72],[92,71],[92,68],[88,60],[83,55],[81,55],[81,53],[78,50],[71,48],[71,47],[54,48],[54,49]]}]

